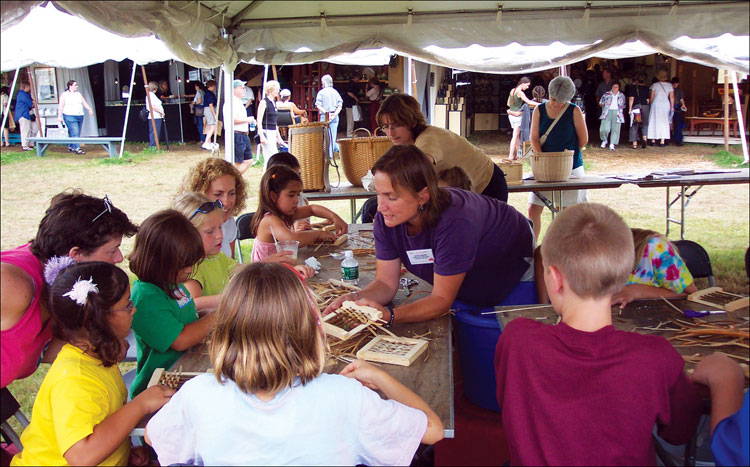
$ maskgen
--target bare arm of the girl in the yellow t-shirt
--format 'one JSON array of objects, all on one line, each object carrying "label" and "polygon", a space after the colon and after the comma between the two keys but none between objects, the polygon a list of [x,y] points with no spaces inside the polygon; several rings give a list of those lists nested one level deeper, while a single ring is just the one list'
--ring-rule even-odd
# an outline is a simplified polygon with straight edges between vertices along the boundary
[{"label": "bare arm of the girl in the yellow t-shirt", "polygon": [[127,439],[145,415],[167,403],[174,389],[152,386],[94,427],[94,432],[71,446],[63,457],[70,465],[98,465]]}]

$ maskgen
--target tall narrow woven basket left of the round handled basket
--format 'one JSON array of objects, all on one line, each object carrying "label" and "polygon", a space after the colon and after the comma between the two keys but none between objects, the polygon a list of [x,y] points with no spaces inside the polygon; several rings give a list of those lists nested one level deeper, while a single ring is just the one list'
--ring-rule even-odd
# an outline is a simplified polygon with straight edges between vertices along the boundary
[{"label": "tall narrow woven basket left of the round handled basket", "polygon": [[329,141],[330,131],[326,122],[289,127],[289,152],[299,161],[302,190],[331,191],[328,182]]}]

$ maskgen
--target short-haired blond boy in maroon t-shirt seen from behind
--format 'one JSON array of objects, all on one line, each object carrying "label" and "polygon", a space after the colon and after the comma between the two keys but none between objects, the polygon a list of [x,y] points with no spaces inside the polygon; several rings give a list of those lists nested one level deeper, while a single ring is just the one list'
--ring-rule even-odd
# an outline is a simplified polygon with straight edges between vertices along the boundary
[{"label": "short-haired blond boy in maroon t-shirt seen from behind", "polygon": [[630,229],[603,205],[572,206],[547,231],[544,281],[561,322],[515,319],[495,350],[513,465],[655,465],[654,424],[673,444],[695,433],[702,401],[680,354],[612,326],[633,254]]}]

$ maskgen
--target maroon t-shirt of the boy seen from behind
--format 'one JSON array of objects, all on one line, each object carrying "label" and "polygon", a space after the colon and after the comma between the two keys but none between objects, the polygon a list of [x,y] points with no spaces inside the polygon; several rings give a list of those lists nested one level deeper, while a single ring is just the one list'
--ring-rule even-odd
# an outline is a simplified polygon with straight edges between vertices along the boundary
[{"label": "maroon t-shirt of the boy seen from behind", "polygon": [[663,337],[526,318],[495,349],[513,465],[655,465],[651,434],[684,444],[702,401]]}]

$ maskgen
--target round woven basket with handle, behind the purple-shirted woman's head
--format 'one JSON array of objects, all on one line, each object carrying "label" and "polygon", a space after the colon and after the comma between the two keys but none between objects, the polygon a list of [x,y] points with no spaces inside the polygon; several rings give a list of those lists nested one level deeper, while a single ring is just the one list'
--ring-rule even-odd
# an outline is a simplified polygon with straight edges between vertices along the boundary
[{"label": "round woven basket with handle, behind the purple-shirted woman's head", "polygon": [[[359,131],[367,132],[367,136],[357,137]],[[344,175],[354,186],[362,186],[362,177],[393,146],[389,137],[370,136],[367,128],[357,128],[351,138],[342,138],[337,142]]]}]

